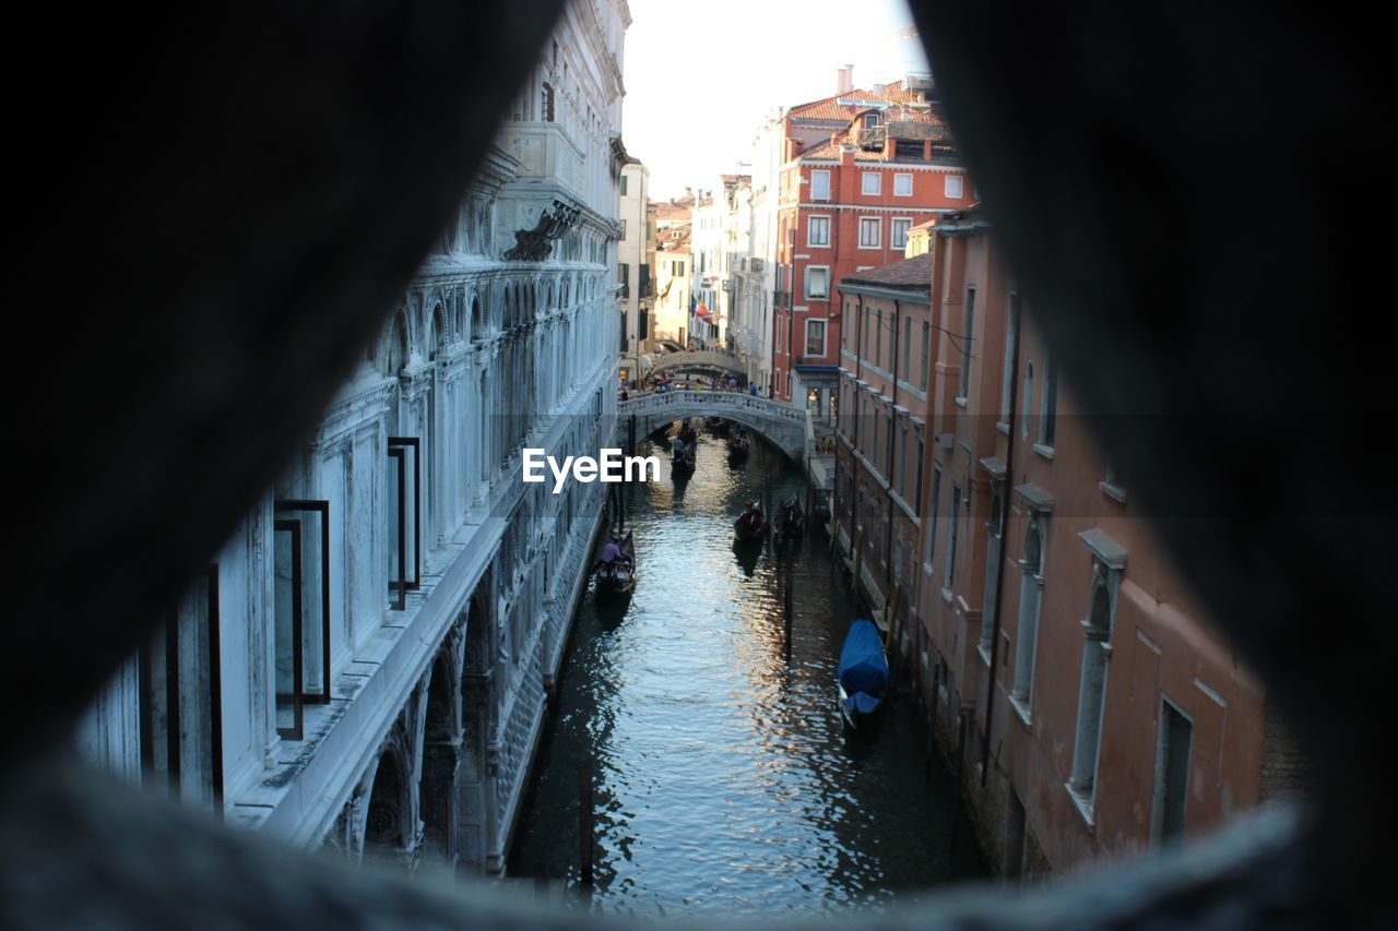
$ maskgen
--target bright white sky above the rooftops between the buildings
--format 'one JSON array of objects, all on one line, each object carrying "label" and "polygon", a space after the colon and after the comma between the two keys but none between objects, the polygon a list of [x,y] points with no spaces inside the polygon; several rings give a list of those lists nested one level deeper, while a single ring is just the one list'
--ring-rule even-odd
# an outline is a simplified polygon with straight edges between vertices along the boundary
[{"label": "bright white sky above the rooftops between the buildings", "polygon": [[765,117],[835,94],[842,64],[857,88],[927,70],[906,0],[628,3],[622,141],[653,200],[737,172]]}]

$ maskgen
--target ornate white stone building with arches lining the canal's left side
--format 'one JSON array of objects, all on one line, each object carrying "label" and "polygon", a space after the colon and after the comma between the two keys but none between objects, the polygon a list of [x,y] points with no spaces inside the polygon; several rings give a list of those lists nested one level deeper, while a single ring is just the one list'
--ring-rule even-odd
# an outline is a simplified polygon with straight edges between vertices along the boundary
[{"label": "ornate white stone building with arches lining the canal's left side", "polygon": [[500,871],[614,433],[625,0],[572,3],[457,221],[78,741],[231,823]]}]

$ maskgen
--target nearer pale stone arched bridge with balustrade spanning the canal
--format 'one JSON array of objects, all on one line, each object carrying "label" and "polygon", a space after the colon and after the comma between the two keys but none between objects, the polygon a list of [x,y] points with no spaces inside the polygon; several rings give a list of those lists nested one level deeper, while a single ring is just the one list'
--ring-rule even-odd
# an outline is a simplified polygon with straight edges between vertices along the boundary
[{"label": "nearer pale stone arched bridge with balustrade spanning the canal", "polygon": [[[699,355],[692,352],[689,355]],[[719,355],[712,354],[712,355]],[[727,358],[727,356],[726,356]],[[811,412],[804,407],[740,391],[647,391],[619,401],[621,429],[636,417],[636,439],[686,417],[721,417],[762,433],[800,461],[811,436]]]}]

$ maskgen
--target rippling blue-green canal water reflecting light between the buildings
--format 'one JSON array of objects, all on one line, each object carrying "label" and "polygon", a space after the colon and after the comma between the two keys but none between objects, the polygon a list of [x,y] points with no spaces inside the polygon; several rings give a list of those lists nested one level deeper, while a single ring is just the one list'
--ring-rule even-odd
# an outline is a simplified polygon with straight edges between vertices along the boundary
[{"label": "rippling blue-green canal water reflecting light between the buildings", "polygon": [[[984,875],[952,783],[924,766],[925,728],[895,699],[870,732],[844,730],[840,646],[856,616],[823,531],[800,547],[734,544],[733,520],[804,485],[766,443],[730,464],[700,429],[698,467],[635,485],[637,584],[579,607],[555,713],[516,830],[516,876],[577,886],[580,773],[591,786],[590,907],[639,916],[888,910]],[[787,660],[783,591],[790,572]],[[930,770],[930,774],[928,774]]]}]

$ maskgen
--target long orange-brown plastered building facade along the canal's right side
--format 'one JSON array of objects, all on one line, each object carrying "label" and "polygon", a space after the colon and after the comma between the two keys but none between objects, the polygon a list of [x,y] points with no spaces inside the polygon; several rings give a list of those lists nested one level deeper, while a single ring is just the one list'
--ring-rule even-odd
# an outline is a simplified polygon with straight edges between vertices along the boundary
[{"label": "long orange-brown plastered building facade along the canal's right side", "polygon": [[1167,846],[1299,788],[976,211],[840,299],[836,533],[991,861],[1036,875]]}]

